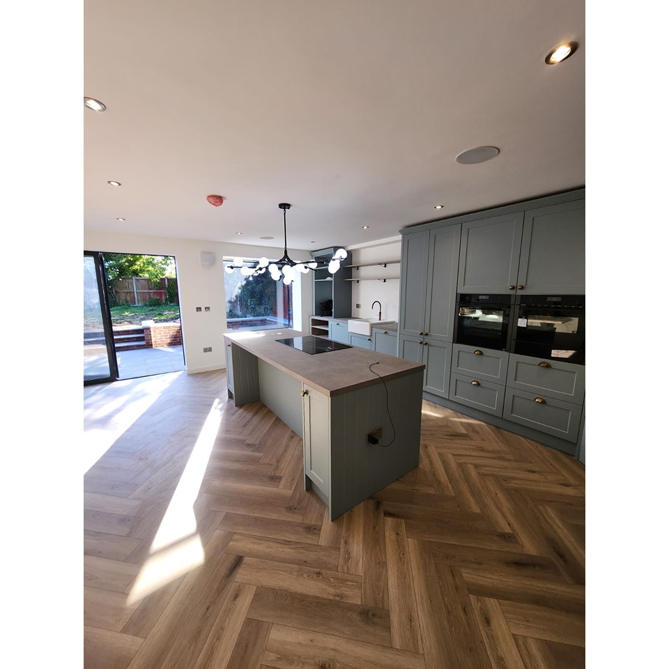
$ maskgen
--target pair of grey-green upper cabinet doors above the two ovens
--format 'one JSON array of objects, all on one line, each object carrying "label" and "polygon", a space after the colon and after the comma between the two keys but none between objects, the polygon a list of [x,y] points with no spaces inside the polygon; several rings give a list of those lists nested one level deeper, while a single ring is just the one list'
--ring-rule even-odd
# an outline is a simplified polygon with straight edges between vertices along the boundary
[{"label": "pair of grey-green upper cabinet doors above the two ovens", "polygon": [[462,224],[459,293],[585,294],[585,199]]}]

